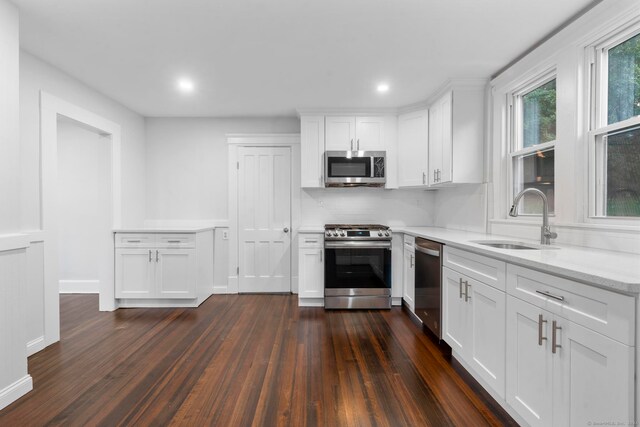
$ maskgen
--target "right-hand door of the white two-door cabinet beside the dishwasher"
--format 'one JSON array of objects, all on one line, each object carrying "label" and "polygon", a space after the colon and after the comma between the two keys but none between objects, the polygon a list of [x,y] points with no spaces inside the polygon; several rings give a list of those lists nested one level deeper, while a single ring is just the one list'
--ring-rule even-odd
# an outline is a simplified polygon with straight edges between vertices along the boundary
[{"label": "right-hand door of the white two-door cabinet beside the dishwasher", "polygon": [[467,363],[504,398],[506,294],[469,277],[463,279],[471,298]]}]

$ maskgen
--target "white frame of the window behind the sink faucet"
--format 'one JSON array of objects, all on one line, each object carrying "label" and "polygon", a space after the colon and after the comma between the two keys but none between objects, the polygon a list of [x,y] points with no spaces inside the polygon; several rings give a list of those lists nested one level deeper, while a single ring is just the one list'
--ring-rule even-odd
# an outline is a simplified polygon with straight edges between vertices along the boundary
[{"label": "white frame of the window behind the sink faucet", "polygon": [[[543,142],[541,144],[537,144],[531,147],[523,147],[524,145],[524,123],[523,123],[523,106],[522,106],[522,98],[528,94],[529,92],[544,86],[552,80],[556,80],[556,139],[553,141]],[[516,158],[521,158],[538,151],[547,151],[553,149],[555,151],[555,146],[558,141],[558,73],[556,66],[553,65],[545,69],[542,72],[536,73],[535,76],[530,77],[526,80],[525,83],[519,85],[513,91],[508,92],[507,94],[507,108],[508,108],[508,143],[507,143],[507,206],[511,206],[513,204],[513,199],[515,197],[515,179],[516,179],[516,168],[514,167],[514,160]],[[554,171],[554,197],[555,197],[555,171]],[[554,201],[555,202],[555,201]],[[555,206],[555,203],[554,203]],[[542,212],[540,213],[519,213],[518,216],[521,217],[529,217],[535,218],[542,216]],[[549,213],[550,217],[555,216],[555,209],[553,213]],[[507,217],[507,219],[513,220],[515,218]]]}]

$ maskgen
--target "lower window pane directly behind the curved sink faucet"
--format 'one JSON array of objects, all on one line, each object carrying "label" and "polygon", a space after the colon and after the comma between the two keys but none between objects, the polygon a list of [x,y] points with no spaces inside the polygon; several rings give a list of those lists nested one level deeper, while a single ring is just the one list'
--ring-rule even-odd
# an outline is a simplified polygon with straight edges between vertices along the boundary
[{"label": "lower window pane directly behind the curved sink faucet", "polygon": [[[542,191],[549,201],[549,213],[554,212],[554,172],[553,149],[538,151],[525,156],[514,158],[514,194],[526,188],[536,188]],[[518,208],[520,214],[542,214],[542,199],[534,194],[525,194]]]}]

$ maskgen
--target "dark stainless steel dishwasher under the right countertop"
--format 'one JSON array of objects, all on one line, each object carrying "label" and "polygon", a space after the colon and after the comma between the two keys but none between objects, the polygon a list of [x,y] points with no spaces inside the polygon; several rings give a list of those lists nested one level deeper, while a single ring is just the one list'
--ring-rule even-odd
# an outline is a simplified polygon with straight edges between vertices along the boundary
[{"label": "dark stainless steel dishwasher under the right countertop", "polygon": [[442,339],[442,245],[416,238],[415,249],[415,313],[438,339]]}]

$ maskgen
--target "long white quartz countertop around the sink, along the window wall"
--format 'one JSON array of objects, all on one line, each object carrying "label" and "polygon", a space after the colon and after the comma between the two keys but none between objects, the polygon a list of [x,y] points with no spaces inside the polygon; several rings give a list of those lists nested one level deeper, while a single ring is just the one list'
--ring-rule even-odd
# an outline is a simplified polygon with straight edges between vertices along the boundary
[{"label": "long white quartz countertop around the sink, along the window wall", "polygon": [[552,246],[558,249],[498,249],[472,241],[512,240],[531,244],[539,244],[540,242],[437,227],[394,227],[393,231],[434,240],[445,245],[601,288],[626,293],[640,293],[640,255],[555,244]]}]

